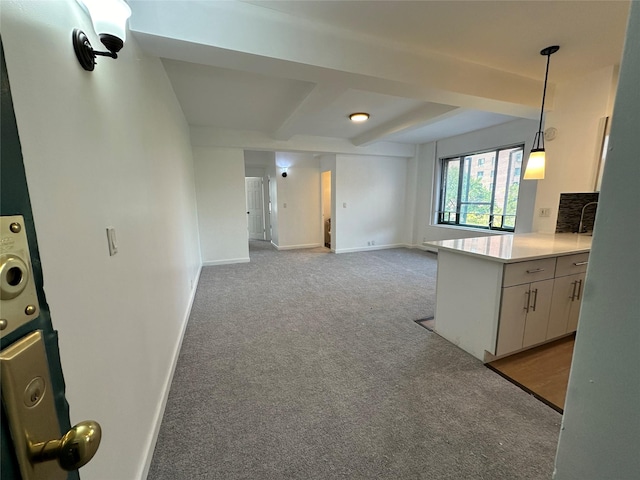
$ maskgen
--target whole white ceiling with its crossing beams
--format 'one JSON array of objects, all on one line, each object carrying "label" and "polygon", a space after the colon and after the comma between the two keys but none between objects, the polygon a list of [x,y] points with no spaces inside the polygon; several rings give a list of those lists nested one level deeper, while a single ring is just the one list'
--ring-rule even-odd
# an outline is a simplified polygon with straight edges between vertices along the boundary
[{"label": "whole white ceiling with its crossing beams", "polygon": [[[196,127],[418,144],[536,118],[550,83],[619,63],[628,1],[130,0]],[[552,85],[551,85],[552,87]],[[549,104],[552,105],[553,89]],[[371,113],[364,124],[348,114]]]}]

